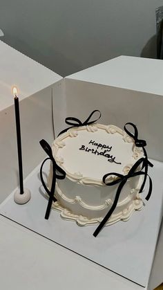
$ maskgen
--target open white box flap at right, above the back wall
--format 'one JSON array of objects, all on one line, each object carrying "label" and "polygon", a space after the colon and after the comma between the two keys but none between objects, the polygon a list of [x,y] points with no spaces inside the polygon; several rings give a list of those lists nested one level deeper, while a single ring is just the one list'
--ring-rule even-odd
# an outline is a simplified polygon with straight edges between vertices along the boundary
[{"label": "open white box flap at right, above the back wall", "polygon": [[163,60],[121,55],[66,78],[163,96]]}]

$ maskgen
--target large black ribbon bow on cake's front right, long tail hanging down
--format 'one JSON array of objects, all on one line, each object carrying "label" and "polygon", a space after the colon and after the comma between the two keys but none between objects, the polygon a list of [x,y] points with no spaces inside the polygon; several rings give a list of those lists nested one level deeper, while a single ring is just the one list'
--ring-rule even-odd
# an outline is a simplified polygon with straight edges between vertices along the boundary
[{"label": "large black ribbon bow on cake's front right, long tail hanging down", "polygon": [[[144,175],[144,176],[148,176],[148,174],[146,174],[146,172],[142,172],[141,170],[146,167],[146,164],[148,165],[148,159],[147,158],[140,158],[131,168],[131,170],[128,172],[128,174],[126,175],[122,175],[116,172],[111,172],[108,174],[105,174],[103,176],[103,182],[108,185],[115,185],[117,183],[120,183],[118,188],[117,188],[117,192],[115,194],[115,200],[113,201],[113,205],[111,206],[111,209],[108,211],[108,213],[106,214],[106,216],[104,217],[104,219],[102,220],[102,222],[99,224],[99,226],[96,228],[95,232],[93,233],[94,237],[97,237],[97,235],[99,234],[100,230],[102,230],[102,228],[104,227],[104,225],[106,224],[106,221],[108,221],[108,219],[111,217],[113,211],[115,210],[116,206],[117,206],[117,202],[119,199],[119,195],[121,193],[122,188],[124,187],[126,181],[134,176],[138,176],[138,175]],[[142,165],[142,169],[140,171],[137,171],[138,167],[140,167],[140,165]],[[106,181],[106,179],[108,178],[108,176],[116,176],[117,179],[115,179],[114,181],[108,182]],[[152,192],[152,180],[151,177],[148,176],[149,178],[149,190],[148,190],[148,194],[146,196],[146,200],[148,201],[148,199],[151,197],[151,192]],[[143,188],[142,188],[143,190]]]}]

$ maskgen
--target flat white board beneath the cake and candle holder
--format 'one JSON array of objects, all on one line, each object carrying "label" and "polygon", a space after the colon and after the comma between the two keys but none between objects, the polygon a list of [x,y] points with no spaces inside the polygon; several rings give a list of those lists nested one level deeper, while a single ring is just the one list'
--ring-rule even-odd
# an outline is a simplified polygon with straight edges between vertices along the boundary
[{"label": "flat white board beneath the cake and candle holder", "polygon": [[[75,221],[61,219],[59,212],[51,210],[48,220],[44,219],[48,200],[39,179],[39,167],[28,176],[24,186],[32,192],[32,199],[24,205],[13,201],[13,194],[1,203],[1,215],[68,248],[88,260],[109,269],[146,287],[157,244],[157,235],[162,220],[163,164],[152,161],[153,194],[144,209],[134,212],[127,222],[119,221],[106,226],[95,238],[97,225],[79,227]],[[49,165],[44,168],[48,174]],[[144,192],[148,190],[148,185]]]}]

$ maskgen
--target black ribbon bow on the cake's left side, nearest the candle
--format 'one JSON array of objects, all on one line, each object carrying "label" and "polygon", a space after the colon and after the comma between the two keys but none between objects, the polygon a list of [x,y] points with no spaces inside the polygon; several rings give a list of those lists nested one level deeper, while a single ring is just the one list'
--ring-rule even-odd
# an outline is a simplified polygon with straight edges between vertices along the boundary
[{"label": "black ribbon bow on the cake's left side, nearest the candle", "polygon": [[[50,209],[52,206],[52,201],[57,201],[57,199],[54,197],[54,193],[55,193],[55,183],[56,183],[56,179],[64,179],[66,177],[66,172],[61,169],[61,167],[59,167],[59,165],[57,165],[57,163],[55,162],[55,158],[52,156],[52,149],[50,147],[50,145],[44,140],[42,139],[41,141],[39,141],[41,147],[44,149],[44,151],[46,152],[46,154],[48,154],[48,158],[46,158],[43,163],[41,164],[40,167],[40,178],[41,178],[41,183],[44,186],[44,189],[46,190],[46,192],[49,195],[49,200],[48,200],[48,206],[46,209],[46,215],[45,215],[45,219],[48,219],[49,215],[50,215]],[[43,179],[43,174],[42,174],[42,168],[44,166],[44,163],[50,159],[52,161],[52,185],[51,185],[51,190],[48,190],[46,183],[44,182]],[[58,174],[58,173],[59,174]]]}]

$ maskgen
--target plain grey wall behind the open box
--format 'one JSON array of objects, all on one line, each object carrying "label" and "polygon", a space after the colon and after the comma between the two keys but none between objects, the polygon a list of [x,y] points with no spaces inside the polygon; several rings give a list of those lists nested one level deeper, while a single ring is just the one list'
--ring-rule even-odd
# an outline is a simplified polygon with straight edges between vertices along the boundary
[{"label": "plain grey wall behind the open box", "polygon": [[118,55],[155,57],[160,0],[0,0],[3,41],[62,76]]}]

